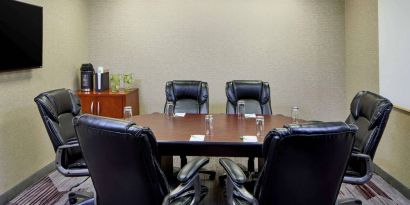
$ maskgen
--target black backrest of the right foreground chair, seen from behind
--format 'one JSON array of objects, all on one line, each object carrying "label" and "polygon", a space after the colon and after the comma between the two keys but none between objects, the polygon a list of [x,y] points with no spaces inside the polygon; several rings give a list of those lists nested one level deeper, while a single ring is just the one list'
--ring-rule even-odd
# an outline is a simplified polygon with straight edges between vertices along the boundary
[{"label": "black backrest of the right foreground chair, seen from behind", "polygon": [[259,204],[335,204],[350,157],[355,125],[321,122],[271,130],[255,186]]}]

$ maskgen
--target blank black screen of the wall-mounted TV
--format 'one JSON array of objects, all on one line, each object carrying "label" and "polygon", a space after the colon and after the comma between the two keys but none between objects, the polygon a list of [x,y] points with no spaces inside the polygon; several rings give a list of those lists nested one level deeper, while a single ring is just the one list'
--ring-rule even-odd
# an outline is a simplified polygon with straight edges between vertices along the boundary
[{"label": "blank black screen of the wall-mounted TV", "polygon": [[43,8],[0,0],[0,71],[43,65]]}]

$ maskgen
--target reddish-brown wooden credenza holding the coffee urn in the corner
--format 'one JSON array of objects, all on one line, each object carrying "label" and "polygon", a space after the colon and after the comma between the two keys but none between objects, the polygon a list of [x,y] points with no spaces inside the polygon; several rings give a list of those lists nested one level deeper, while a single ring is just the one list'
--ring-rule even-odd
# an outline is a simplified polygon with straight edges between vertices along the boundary
[{"label": "reddish-brown wooden credenza holding the coffee urn in the corner", "polygon": [[138,88],[131,90],[120,90],[111,92],[82,92],[77,91],[81,99],[81,109],[83,113],[93,115],[123,118],[123,109],[125,106],[132,107],[132,114],[139,115],[139,94]]}]

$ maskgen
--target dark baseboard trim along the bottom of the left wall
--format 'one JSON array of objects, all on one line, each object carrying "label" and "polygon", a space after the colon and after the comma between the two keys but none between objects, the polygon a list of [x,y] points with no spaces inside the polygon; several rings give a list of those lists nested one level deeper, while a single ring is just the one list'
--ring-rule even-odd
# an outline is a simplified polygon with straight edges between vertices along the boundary
[{"label": "dark baseboard trim along the bottom of the left wall", "polygon": [[10,200],[14,199],[14,197],[16,197],[18,194],[20,194],[25,189],[27,189],[29,186],[33,185],[35,182],[37,182],[41,178],[45,177],[47,174],[49,174],[50,172],[52,172],[55,169],[56,169],[56,166],[55,166],[54,162],[51,162],[50,164],[48,164],[45,167],[41,168],[36,173],[34,173],[33,175],[27,177],[26,179],[24,179],[22,182],[20,182],[19,184],[17,184],[13,188],[11,188],[8,191],[2,193],[0,195],[0,204],[5,205]]}]

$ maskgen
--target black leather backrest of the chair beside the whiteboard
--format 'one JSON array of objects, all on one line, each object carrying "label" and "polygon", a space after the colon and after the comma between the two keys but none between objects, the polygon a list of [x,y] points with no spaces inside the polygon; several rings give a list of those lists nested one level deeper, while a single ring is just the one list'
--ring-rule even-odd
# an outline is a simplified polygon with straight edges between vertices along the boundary
[{"label": "black leather backrest of the chair beside the whiteboard", "polygon": [[380,95],[369,91],[356,94],[350,104],[350,115],[346,119],[346,123],[355,124],[359,128],[355,149],[373,159],[392,108],[392,103]]}]

